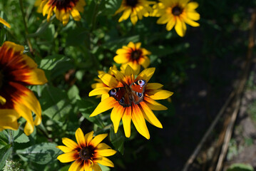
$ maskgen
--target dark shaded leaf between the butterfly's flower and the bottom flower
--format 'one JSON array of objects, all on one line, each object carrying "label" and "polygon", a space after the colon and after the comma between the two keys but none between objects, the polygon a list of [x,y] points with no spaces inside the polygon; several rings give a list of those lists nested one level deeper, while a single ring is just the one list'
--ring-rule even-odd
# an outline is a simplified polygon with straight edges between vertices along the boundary
[{"label": "dark shaded leaf between the butterfly's flower and the bottom flower", "polygon": [[124,151],[124,141],[125,141],[125,137],[123,136],[123,133],[121,133],[121,131],[118,129],[118,132],[115,133],[113,127],[111,128],[111,133],[110,133],[110,138],[111,138],[111,142],[113,144],[113,146],[115,147],[116,150],[118,150],[119,152],[121,152],[121,154],[123,155],[123,151]]}]

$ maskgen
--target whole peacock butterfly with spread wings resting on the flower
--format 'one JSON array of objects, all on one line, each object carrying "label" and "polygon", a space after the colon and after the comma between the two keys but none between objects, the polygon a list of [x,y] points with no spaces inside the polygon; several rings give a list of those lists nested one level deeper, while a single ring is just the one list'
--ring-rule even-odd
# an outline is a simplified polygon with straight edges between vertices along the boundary
[{"label": "whole peacock butterfly with spread wings resting on the flower", "polygon": [[143,100],[146,85],[145,80],[139,80],[131,83],[130,86],[113,88],[108,91],[108,94],[115,98],[123,107],[131,106],[132,103],[137,105]]}]

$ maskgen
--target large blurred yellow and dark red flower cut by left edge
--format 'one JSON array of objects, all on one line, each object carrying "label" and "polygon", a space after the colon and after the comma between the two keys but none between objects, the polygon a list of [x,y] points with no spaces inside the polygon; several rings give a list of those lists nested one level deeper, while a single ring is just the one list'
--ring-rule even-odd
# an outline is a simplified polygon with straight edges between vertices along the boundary
[{"label": "large blurred yellow and dark red flower cut by left edge", "polygon": [[[23,51],[24,46],[9,41],[0,47],[0,130],[18,129],[17,119],[23,117],[26,119],[24,133],[30,135],[34,125],[41,123],[41,105],[26,86],[41,85],[47,80],[44,72]],[[36,114],[35,120],[31,111]]]}]

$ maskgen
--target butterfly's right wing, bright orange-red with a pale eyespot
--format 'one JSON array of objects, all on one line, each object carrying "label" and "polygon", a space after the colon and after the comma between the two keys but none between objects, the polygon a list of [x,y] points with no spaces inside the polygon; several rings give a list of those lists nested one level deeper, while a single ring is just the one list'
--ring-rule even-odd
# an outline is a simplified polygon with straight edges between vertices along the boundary
[{"label": "butterfly's right wing, bright orange-red with a pale eyespot", "polygon": [[133,103],[137,105],[143,100],[145,86],[147,85],[145,80],[138,80],[130,84],[130,90],[132,93]]}]

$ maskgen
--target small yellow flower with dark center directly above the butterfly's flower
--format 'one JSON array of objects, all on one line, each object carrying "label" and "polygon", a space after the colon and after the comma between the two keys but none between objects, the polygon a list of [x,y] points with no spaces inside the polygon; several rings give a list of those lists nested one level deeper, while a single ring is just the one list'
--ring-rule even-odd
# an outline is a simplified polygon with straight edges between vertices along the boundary
[{"label": "small yellow flower with dark center directly above the butterfly's flower", "polygon": [[140,72],[140,66],[148,68],[150,60],[147,55],[150,55],[150,51],[140,48],[140,45],[141,43],[129,42],[127,46],[119,48],[116,51],[118,55],[114,57],[114,61],[121,63],[123,68],[129,65],[133,68],[135,75]]}]

